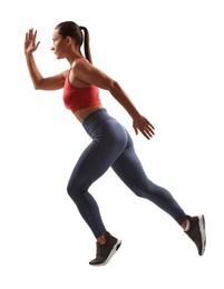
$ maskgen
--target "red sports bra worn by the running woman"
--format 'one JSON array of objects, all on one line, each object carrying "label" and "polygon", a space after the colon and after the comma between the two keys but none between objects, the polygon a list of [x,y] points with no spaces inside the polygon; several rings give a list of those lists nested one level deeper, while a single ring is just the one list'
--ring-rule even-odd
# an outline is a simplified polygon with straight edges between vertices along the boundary
[{"label": "red sports bra worn by the running woman", "polygon": [[81,109],[101,104],[99,98],[99,89],[90,86],[87,88],[77,88],[69,82],[69,73],[67,74],[64,86],[64,103],[67,109],[76,112]]}]

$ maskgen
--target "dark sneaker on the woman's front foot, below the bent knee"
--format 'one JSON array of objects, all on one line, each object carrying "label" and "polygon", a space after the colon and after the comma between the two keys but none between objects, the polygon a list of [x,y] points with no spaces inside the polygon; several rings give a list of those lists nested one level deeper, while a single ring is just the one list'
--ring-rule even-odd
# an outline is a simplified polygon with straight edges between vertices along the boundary
[{"label": "dark sneaker on the woman's front foot, below the bent knee", "polygon": [[121,241],[106,232],[106,242],[100,245],[97,242],[97,256],[89,262],[91,266],[106,265],[115,252],[119,249]]}]

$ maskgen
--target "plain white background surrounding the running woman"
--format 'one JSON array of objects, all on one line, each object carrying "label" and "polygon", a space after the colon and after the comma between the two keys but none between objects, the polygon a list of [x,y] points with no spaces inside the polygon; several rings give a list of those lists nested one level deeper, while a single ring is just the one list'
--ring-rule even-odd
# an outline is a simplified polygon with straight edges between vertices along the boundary
[{"label": "plain white background surrounding the running woman", "polygon": [[[223,287],[222,3],[21,0],[1,7],[0,288]],[[205,215],[203,257],[168,215],[109,170],[90,192],[123,245],[106,267],[88,265],[95,239],[66,187],[89,138],[64,107],[62,91],[33,89],[23,56],[25,33],[33,28],[41,73],[68,68],[50,51],[55,26],[65,20],[89,29],[94,64],[118,80],[155,126],[150,141],[135,136],[129,116],[101,91],[148,177],[186,213]]]}]

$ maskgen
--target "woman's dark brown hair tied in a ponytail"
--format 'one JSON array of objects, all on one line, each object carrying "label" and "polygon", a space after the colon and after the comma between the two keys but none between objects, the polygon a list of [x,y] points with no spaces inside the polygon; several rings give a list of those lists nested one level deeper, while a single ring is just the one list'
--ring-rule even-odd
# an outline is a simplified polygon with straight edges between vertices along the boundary
[{"label": "woman's dark brown hair tied in a ponytail", "polygon": [[61,34],[64,38],[70,37],[76,42],[76,44],[79,46],[79,48],[82,46],[84,42],[85,57],[90,63],[92,63],[89,47],[89,31],[86,27],[78,26],[74,21],[65,21],[57,24],[55,29],[58,29],[59,34]]}]

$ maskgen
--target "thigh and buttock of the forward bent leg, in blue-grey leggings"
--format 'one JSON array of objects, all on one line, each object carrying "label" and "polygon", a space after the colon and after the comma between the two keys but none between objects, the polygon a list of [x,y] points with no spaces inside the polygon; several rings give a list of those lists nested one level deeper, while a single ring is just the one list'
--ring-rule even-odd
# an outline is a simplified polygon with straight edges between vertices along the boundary
[{"label": "thigh and buttock of the forward bent leg, in blue-grey leggings", "polygon": [[126,143],[126,131],[118,122],[98,127],[95,138],[77,161],[69,183],[87,190],[123,153]]}]

